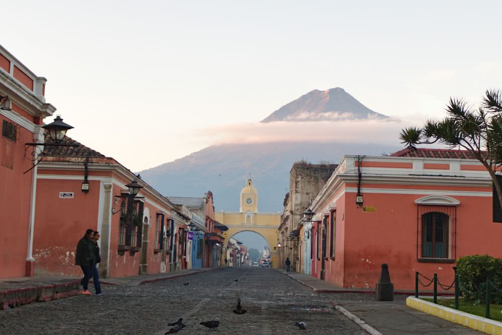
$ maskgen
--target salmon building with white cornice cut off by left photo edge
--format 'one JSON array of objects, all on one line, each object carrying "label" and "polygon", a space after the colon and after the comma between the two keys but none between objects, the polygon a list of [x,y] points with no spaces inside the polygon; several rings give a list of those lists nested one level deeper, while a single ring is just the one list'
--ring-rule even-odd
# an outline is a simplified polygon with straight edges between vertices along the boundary
[{"label": "salmon building with white cornice cut off by left photo edge", "polygon": [[56,110],[45,100],[46,81],[0,46],[0,278],[33,275],[36,147],[26,143],[43,143],[43,122]]}]

